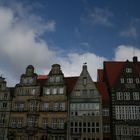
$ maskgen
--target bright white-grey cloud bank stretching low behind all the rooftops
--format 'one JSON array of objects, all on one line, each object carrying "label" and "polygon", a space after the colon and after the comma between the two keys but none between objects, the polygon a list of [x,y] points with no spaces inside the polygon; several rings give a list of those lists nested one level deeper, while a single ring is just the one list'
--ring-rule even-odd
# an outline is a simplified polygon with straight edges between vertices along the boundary
[{"label": "bright white-grey cloud bank stretching low behind all the rooftops", "polygon": [[[107,58],[90,52],[67,52],[64,56],[61,51],[52,50],[47,40],[44,41],[40,36],[44,32],[55,32],[57,23],[53,19],[44,21],[32,14],[27,16],[21,6],[17,7],[0,7],[0,74],[6,78],[8,86],[19,82],[20,75],[29,64],[35,67],[38,74],[48,74],[51,65],[59,63],[65,76],[74,76],[80,75],[83,63],[87,62],[88,70],[96,80],[96,71],[102,68],[102,62]],[[128,59],[131,56],[129,52],[133,52],[132,48],[117,47],[114,59]],[[140,50],[135,51],[136,55],[140,55]]]}]

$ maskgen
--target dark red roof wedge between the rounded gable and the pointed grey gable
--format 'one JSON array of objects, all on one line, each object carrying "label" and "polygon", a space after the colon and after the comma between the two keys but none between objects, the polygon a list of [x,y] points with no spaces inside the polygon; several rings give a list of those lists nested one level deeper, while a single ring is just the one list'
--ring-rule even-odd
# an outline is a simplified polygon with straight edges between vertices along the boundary
[{"label": "dark red roof wedge between the rounded gable and the pointed grey gable", "polygon": [[65,82],[66,82],[66,86],[67,86],[67,93],[68,95],[72,92],[77,80],[78,80],[78,76],[75,77],[65,77]]}]

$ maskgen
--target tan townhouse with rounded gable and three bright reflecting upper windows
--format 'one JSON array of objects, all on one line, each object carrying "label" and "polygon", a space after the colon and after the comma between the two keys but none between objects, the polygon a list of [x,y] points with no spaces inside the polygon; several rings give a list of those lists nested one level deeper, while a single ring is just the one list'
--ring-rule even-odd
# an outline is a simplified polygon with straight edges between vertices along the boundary
[{"label": "tan townhouse with rounded gable and three bright reflecting upper windows", "polygon": [[66,140],[67,94],[64,75],[59,64],[52,65],[47,76],[43,86],[40,110],[44,138]]}]

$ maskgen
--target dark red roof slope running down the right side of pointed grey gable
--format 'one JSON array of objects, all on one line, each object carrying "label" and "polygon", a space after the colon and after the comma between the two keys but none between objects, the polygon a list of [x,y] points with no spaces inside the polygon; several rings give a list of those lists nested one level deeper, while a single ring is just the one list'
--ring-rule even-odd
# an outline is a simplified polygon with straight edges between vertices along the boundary
[{"label": "dark red roof slope running down the right side of pointed grey gable", "polygon": [[109,103],[109,93],[106,84],[104,82],[95,82],[95,85],[102,97],[102,102]]}]

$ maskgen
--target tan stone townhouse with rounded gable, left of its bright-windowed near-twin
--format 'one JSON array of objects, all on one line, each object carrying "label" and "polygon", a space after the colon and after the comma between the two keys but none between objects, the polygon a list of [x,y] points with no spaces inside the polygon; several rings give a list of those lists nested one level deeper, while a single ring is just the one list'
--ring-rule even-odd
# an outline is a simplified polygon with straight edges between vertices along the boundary
[{"label": "tan stone townhouse with rounded gable, left of its bright-windowed near-twin", "polygon": [[40,140],[40,87],[37,74],[29,65],[15,86],[9,123],[9,140]]}]

